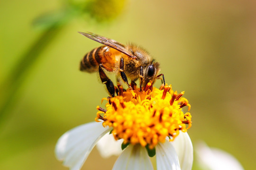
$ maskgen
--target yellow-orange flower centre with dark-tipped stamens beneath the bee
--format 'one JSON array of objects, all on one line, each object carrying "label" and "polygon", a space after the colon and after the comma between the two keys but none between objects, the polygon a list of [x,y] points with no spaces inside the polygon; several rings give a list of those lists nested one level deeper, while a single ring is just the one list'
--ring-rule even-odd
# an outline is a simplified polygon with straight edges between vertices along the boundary
[{"label": "yellow-orange flower centre with dark-tipped stamens beneath the bee", "polygon": [[191,108],[184,92],[177,93],[171,85],[159,89],[148,83],[142,91],[133,86],[123,90],[118,87],[118,95],[107,100],[106,110],[97,106],[96,121],[103,120],[103,127],[112,128],[116,140],[123,139],[124,144],[140,144],[153,149],[166,137],[173,141],[180,131],[186,132],[192,126],[190,112],[182,108]]}]

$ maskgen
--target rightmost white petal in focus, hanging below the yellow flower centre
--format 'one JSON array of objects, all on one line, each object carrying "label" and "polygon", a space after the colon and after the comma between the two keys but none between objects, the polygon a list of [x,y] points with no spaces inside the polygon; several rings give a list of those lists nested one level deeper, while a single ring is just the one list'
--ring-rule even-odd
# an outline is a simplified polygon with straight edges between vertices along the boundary
[{"label": "rightmost white petal in focus, hanging below the yellow flower centre", "polygon": [[182,170],[191,170],[193,164],[193,145],[187,132],[180,134],[171,142],[174,145]]}]

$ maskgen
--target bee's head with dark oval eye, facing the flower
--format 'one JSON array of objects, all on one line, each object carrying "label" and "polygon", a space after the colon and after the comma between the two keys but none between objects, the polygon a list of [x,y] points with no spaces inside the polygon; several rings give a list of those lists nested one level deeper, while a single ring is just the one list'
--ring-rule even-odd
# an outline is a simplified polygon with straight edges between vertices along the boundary
[{"label": "bee's head with dark oval eye, facing the flower", "polygon": [[148,82],[152,82],[152,84],[155,82],[155,77],[158,75],[160,71],[160,64],[158,62],[152,61],[147,67],[144,72],[143,77],[143,86],[146,86]]}]

